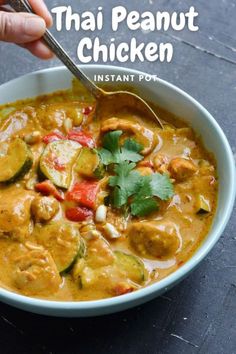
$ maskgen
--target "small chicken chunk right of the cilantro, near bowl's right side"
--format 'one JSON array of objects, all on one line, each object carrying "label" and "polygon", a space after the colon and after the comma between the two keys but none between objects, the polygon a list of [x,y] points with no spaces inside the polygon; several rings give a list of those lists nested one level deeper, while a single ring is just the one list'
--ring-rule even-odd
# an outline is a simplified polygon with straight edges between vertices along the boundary
[{"label": "small chicken chunk right of the cilantro, near bowl's right side", "polygon": [[177,181],[183,181],[197,172],[197,167],[194,163],[182,157],[176,157],[171,160],[168,170],[171,177],[175,178]]}]

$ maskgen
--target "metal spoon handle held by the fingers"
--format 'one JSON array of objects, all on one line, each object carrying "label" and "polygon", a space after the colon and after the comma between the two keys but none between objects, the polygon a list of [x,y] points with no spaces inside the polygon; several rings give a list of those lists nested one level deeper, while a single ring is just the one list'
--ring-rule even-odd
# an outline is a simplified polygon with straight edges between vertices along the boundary
[{"label": "metal spoon handle held by the fingers", "polygon": [[[34,13],[32,7],[27,0],[8,0],[8,4],[16,12],[29,12]],[[100,98],[103,95],[103,90],[96,86],[88,77],[80,70],[67,52],[58,43],[56,38],[50,31],[46,30],[42,37],[49,49],[60,59],[63,64],[72,72],[72,74],[79,79],[82,84],[89,90],[89,92],[95,97]]]}]

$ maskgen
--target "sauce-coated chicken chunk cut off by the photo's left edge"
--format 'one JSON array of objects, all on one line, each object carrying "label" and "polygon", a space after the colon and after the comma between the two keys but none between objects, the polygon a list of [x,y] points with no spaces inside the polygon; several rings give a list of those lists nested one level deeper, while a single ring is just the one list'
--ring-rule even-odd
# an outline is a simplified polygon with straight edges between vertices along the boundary
[{"label": "sauce-coated chicken chunk cut off by the photo's left edge", "polygon": [[31,229],[30,207],[34,198],[21,188],[10,187],[1,191],[0,235],[23,241]]}]

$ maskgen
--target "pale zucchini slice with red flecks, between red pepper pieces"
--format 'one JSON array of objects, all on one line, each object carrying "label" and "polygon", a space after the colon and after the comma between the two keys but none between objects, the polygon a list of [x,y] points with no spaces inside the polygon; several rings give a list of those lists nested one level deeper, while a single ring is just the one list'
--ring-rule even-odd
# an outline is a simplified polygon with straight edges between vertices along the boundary
[{"label": "pale zucchini slice with red flecks, between red pepper pieces", "polygon": [[81,145],[71,140],[49,143],[40,158],[40,170],[56,186],[68,189],[71,183],[72,167]]}]

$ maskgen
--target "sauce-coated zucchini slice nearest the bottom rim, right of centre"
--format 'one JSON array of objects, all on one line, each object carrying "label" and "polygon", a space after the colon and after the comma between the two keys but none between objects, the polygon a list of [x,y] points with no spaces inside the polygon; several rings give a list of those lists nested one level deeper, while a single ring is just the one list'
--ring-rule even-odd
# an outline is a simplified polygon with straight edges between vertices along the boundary
[{"label": "sauce-coated zucchini slice nearest the bottom rim, right of centre", "polygon": [[143,283],[146,279],[146,269],[144,263],[136,256],[121,251],[114,252],[117,267],[125,275],[136,283]]}]

